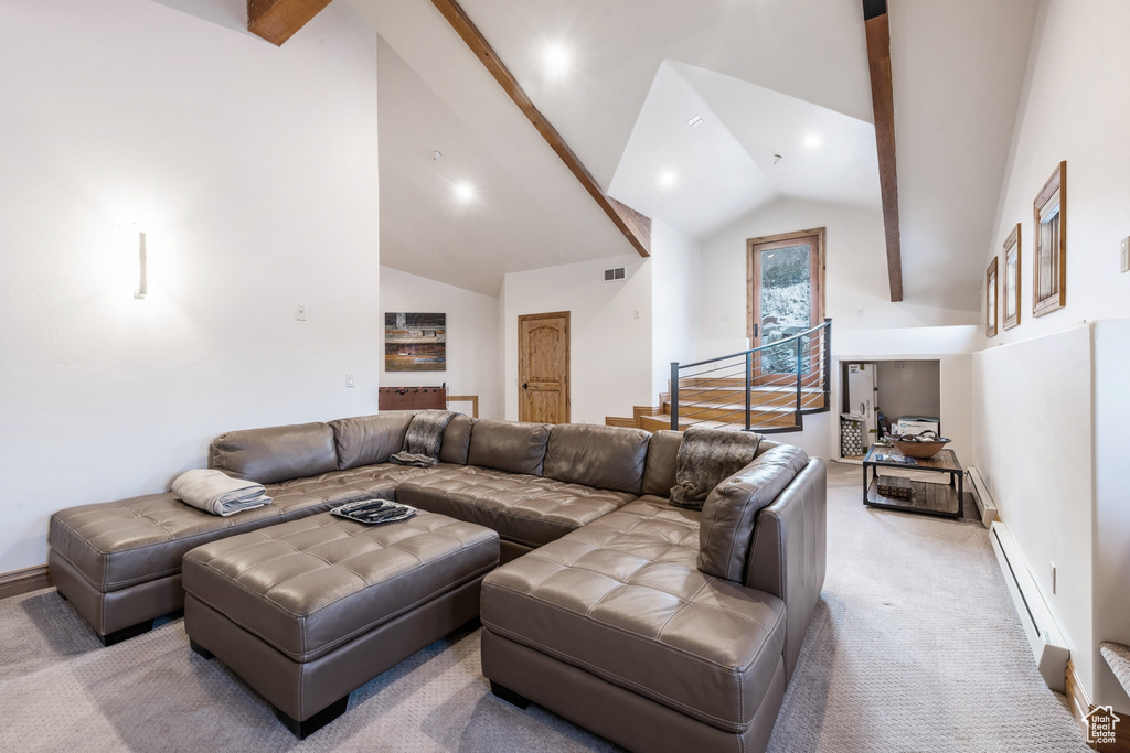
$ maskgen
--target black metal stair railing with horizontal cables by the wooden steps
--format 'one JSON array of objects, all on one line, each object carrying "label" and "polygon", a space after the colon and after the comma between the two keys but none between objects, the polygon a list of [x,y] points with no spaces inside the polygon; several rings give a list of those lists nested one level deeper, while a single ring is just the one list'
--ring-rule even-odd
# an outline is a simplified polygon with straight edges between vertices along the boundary
[{"label": "black metal stair railing with horizontal cables by the wooden steps", "polygon": [[671,428],[711,422],[774,434],[831,410],[832,319],[740,353],[671,364]]}]

